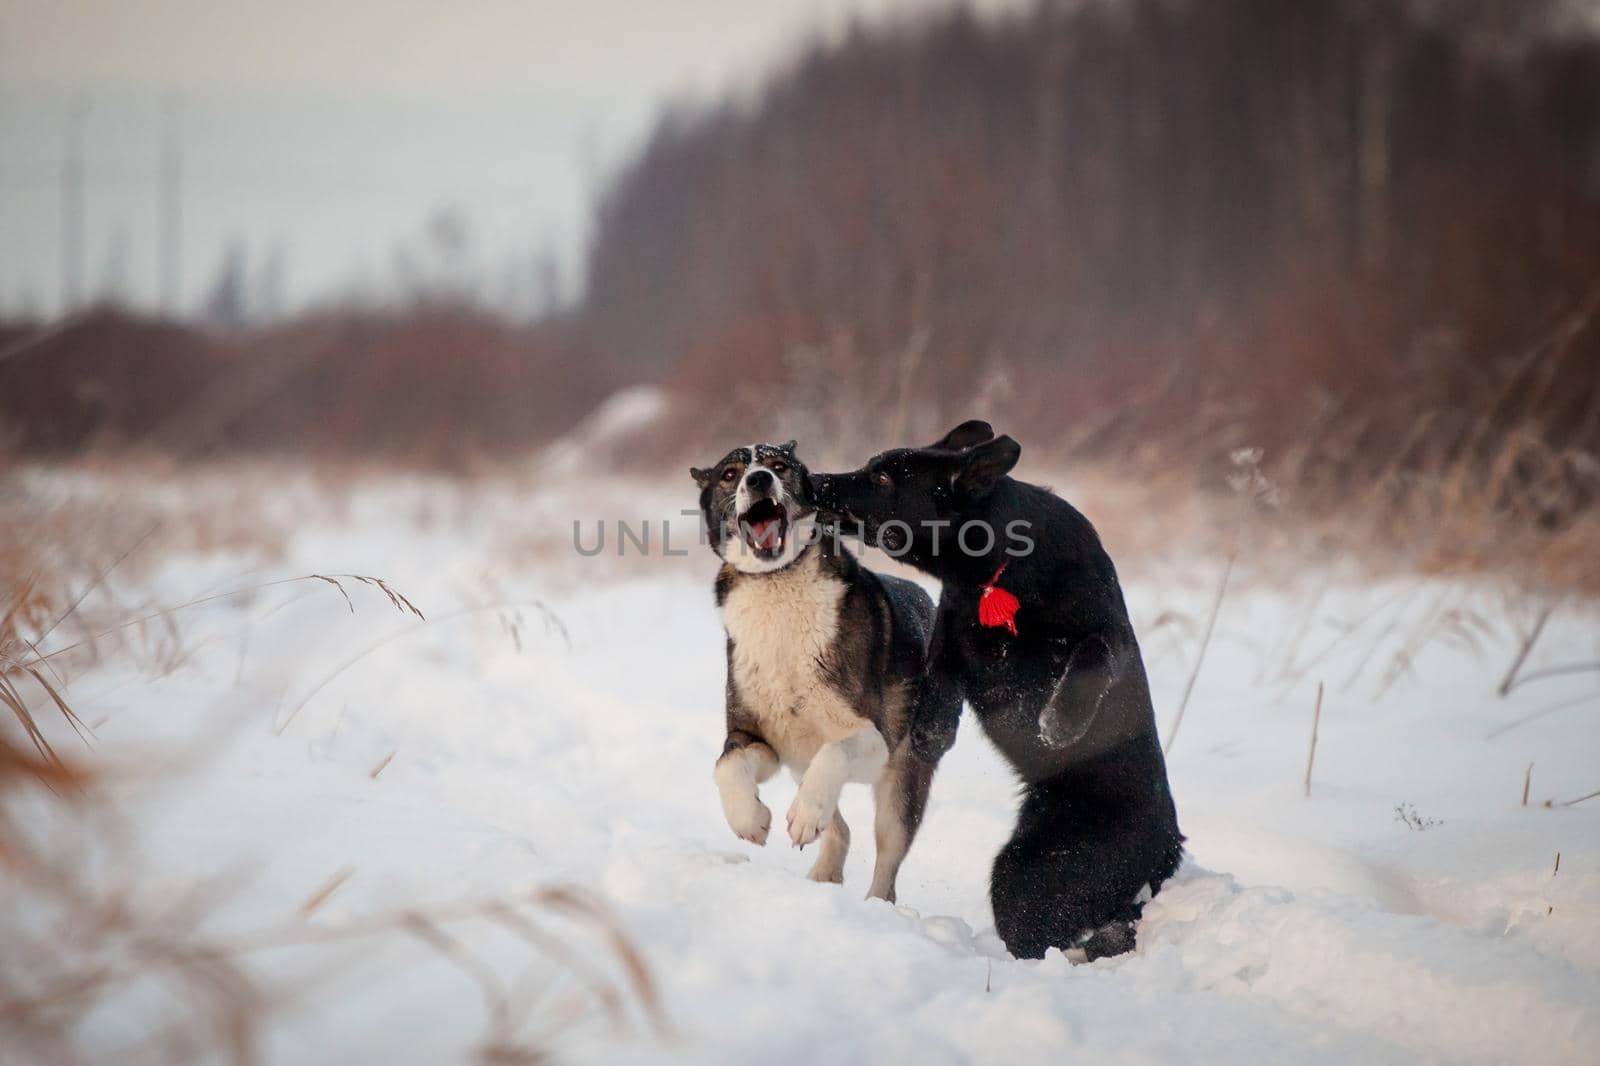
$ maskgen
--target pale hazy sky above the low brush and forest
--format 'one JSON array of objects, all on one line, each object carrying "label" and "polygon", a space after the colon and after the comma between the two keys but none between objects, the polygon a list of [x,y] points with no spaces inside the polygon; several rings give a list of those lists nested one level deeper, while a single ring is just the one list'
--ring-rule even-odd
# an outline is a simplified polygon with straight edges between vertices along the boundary
[{"label": "pale hazy sky above the low brush and forest", "polygon": [[157,303],[163,115],[181,99],[186,309],[230,242],[253,272],[282,264],[290,309],[382,290],[445,208],[485,287],[522,306],[507,264],[550,248],[576,285],[598,178],[662,102],[747,91],[856,16],[928,6],[0,0],[0,314],[59,306],[75,99],[90,293]]}]

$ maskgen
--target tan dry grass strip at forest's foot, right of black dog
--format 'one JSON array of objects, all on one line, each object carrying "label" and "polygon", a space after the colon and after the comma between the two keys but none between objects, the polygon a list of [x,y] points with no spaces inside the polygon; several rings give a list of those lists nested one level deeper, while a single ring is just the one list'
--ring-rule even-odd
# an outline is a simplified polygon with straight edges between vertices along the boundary
[{"label": "tan dry grass strip at forest's foot, right of black dog", "polygon": [[[1005,423],[997,423],[1005,427]],[[1376,477],[1360,487],[1306,474],[1272,455],[1261,471],[1272,507],[1243,522],[1227,469],[1197,469],[1165,453],[1054,464],[1027,451],[1019,475],[1051,483],[1101,531],[1118,565],[1174,554],[1226,557],[1238,538],[1254,570],[1286,581],[1334,567],[1370,576],[1435,575],[1506,581],[1544,602],[1600,594],[1600,482],[1536,479],[1541,506],[1507,499],[1507,485],[1459,466]],[[1506,445],[1509,453],[1515,443]],[[1502,466],[1502,464],[1494,464]],[[1054,469],[1066,472],[1053,475]],[[1491,467],[1494,469],[1494,467]],[[1523,499],[1531,488],[1520,488]]]}]

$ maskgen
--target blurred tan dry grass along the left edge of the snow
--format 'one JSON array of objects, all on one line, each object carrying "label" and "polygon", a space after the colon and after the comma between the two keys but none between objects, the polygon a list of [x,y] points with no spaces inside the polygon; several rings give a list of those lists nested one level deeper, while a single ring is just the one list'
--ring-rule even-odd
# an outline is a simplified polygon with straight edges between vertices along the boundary
[{"label": "blurred tan dry grass along the left edge of the snow", "polygon": [[[139,869],[139,826],[123,820],[128,789],[163,781],[174,767],[98,760],[67,695],[77,672],[149,651],[154,642],[130,637],[139,632],[158,631],[166,658],[181,658],[184,610],[290,581],[328,586],[349,610],[357,610],[350,592],[365,587],[414,624],[424,615],[405,592],[370,575],[317,573],[187,603],[126,603],[117,586],[130,568],[154,565],[171,549],[250,546],[270,555],[270,523],[261,522],[259,507],[234,506],[229,493],[200,514],[200,504],[182,496],[62,496],[51,491],[62,483],[58,477],[70,480],[74,472],[0,477],[0,491],[18,503],[0,509],[0,711],[13,722],[0,722],[0,1058],[256,1063],[267,1031],[304,1008],[334,967],[334,948],[370,951],[402,940],[461,972],[482,996],[488,1023],[475,1047],[462,1048],[482,1061],[549,1061],[562,1028],[592,1010],[614,1026],[667,1032],[650,967],[605,904],[581,888],[541,887],[323,922],[323,904],[354,874],[344,868],[286,908],[280,925],[214,933],[205,919],[226,901],[227,884],[202,882],[174,896],[168,884],[131,872]],[[235,536],[245,525],[251,535]],[[126,535],[141,527],[149,531]],[[59,723],[83,739],[82,749],[51,743]],[[576,1002],[589,1007],[574,1015],[568,999],[514,1008],[485,944],[520,944],[518,965],[565,975],[579,991]],[[282,967],[259,964],[264,952],[285,948],[304,949],[301,983],[285,983]],[[107,1047],[94,1020],[115,1015],[138,1016],[141,1036]]]}]

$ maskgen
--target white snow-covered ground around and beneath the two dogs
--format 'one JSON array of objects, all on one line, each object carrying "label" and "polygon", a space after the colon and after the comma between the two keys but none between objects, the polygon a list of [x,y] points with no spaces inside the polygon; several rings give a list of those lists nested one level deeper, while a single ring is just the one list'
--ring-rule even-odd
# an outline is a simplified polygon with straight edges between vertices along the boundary
[{"label": "white snow-covered ground around and beneath the two dogs", "polygon": [[[758,848],[723,824],[723,637],[714,559],[678,515],[688,477],[534,491],[258,472],[227,493],[208,477],[115,491],[152,512],[248,501],[262,546],[130,559],[85,610],[253,591],[125,629],[70,675],[90,751],[46,728],[109,768],[115,829],[43,802],[29,824],[98,892],[245,967],[269,1061],[1595,1061],[1600,799],[1566,804],[1600,787],[1600,674],[1499,696],[1541,605],[1493,583],[1285,584],[1242,557],[1170,755],[1187,864],[1134,954],[1018,962],[986,890],[1014,787],[970,719],[899,906],[862,900],[866,787],[843,802],[843,887],[806,882],[813,856],[781,834]],[[651,559],[618,560],[614,536],[573,549],[574,519],[592,543],[618,517],[658,523]],[[662,519],[688,555],[661,555]],[[1221,560],[1110,549],[1166,736]],[[349,578],[254,587],[312,573],[379,576],[427,621]],[[1566,600],[1520,675],[1595,658],[1600,615]],[[763,799],[781,813],[792,791],[779,778]],[[659,1012],[565,896],[523,903],[552,885],[614,916]],[[6,911],[5,988],[82,962],[18,949],[59,917],[50,901]],[[82,1040],[158,1061],[192,994],[134,980]]]}]

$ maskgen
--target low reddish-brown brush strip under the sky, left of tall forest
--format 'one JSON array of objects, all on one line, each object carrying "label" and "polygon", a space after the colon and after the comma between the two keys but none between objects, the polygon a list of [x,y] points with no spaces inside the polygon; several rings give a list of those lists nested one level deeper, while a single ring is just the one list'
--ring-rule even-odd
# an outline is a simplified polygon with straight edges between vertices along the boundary
[{"label": "low reddish-brown brush strip under the sky, left of tall forest", "polygon": [[107,309],[37,341],[0,331],[0,427],[14,447],[54,455],[296,451],[459,467],[550,440],[619,379],[558,325],[445,306],[245,333]]}]

